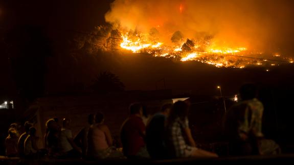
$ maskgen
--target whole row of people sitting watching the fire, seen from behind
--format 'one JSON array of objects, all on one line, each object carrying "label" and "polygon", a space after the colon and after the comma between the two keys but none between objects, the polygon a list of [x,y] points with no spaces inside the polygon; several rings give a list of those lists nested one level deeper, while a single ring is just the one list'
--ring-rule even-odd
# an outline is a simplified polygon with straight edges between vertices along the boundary
[{"label": "whole row of people sitting watching the fire, seen from behind", "polygon": [[[280,153],[279,146],[265,139],[261,132],[263,105],[256,99],[253,84],[240,89],[242,101],[234,105],[225,117],[224,130],[230,146],[230,155],[264,155]],[[57,117],[46,123],[44,149],[38,149],[36,128],[29,122],[19,135],[19,126],[12,124],[5,140],[9,157],[56,158],[185,158],[218,157],[216,153],[197,148],[189,128],[189,102],[166,104],[160,112],[148,117],[140,103],[129,107],[129,117],[121,126],[120,138],[113,138],[104,123],[101,112],[89,114],[87,126],[75,137],[70,129],[71,120]]]}]

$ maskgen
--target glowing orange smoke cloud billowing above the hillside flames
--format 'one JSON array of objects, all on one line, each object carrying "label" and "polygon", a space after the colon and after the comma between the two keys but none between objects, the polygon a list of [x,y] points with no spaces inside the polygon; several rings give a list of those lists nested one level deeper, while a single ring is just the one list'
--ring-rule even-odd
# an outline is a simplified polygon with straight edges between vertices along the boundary
[{"label": "glowing orange smoke cloud billowing above the hillside flames", "polygon": [[286,0],[116,0],[105,14],[114,27],[148,33],[156,28],[170,41],[213,36],[222,46],[245,46],[263,52],[293,52],[294,3]]}]

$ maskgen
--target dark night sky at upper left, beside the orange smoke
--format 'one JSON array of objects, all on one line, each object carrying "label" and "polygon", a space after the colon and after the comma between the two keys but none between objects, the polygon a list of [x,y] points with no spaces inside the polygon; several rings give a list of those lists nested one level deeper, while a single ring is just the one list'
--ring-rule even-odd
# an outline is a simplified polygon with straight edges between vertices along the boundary
[{"label": "dark night sky at upper left, beside the orange smoke", "polygon": [[104,22],[110,0],[0,1],[2,27],[19,24],[91,31]]}]

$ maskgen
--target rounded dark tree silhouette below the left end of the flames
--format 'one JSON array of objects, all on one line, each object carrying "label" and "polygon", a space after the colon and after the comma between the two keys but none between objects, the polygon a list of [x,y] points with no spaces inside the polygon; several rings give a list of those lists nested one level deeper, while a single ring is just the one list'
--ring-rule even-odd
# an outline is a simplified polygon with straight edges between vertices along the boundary
[{"label": "rounded dark tree silhouette below the left end of the flames", "polygon": [[94,92],[108,93],[113,91],[123,91],[125,85],[121,82],[118,76],[106,71],[101,72],[97,76],[92,87]]}]

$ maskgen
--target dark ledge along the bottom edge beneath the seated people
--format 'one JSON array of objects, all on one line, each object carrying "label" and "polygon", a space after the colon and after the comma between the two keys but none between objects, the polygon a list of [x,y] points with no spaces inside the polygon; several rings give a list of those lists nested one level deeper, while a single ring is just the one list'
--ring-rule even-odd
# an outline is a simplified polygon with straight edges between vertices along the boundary
[{"label": "dark ledge along the bottom edge beneath the seated people", "polygon": [[82,159],[19,159],[0,157],[0,164],[43,164],[43,165],[66,165],[66,164],[293,164],[294,154],[282,154],[275,156],[243,156],[221,158],[187,158],[170,160],[82,160]]}]

